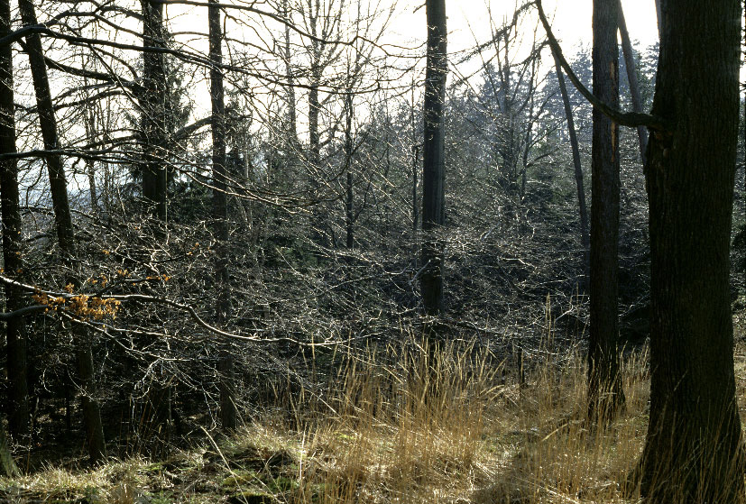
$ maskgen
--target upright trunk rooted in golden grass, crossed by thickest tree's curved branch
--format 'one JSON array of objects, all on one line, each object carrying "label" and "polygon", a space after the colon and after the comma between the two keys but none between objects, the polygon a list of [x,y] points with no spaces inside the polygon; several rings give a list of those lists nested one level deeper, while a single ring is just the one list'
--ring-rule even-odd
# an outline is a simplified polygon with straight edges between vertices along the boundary
[{"label": "upright trunk rooted in golden grass, crossed by thickest tree's curved branch", "polygon": [[[594,95],[612,108],[619,107],[618,7],[618,0],[594,0]],[[619,127],[597,109],[592,169],[588,417],[604,424],[624,402],[617,349]]]}]

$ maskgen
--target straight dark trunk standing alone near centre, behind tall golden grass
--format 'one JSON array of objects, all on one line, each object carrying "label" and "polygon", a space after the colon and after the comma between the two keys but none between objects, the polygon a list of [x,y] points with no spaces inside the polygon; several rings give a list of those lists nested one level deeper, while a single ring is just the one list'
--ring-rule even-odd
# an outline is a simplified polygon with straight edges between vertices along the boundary
[{"label": "straight dark trunk standing alone near centre, behind tall golden grass", "polygon": [[425,152],[422,171],[422,264],[419,277],[425,313],[437,315],[443,298],[443,243],[440,228],[446,221],[445,107],[448,72],[446,2],[427,0],[428,56],[425,70]]}]

